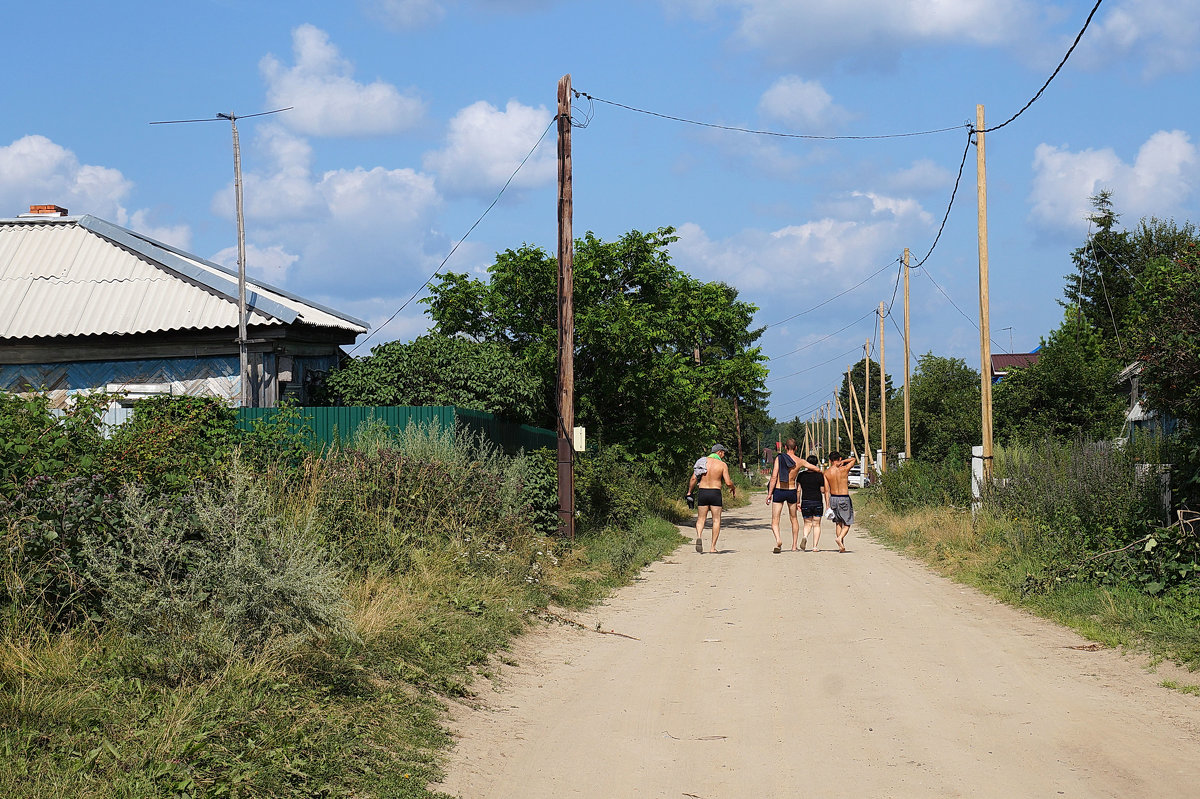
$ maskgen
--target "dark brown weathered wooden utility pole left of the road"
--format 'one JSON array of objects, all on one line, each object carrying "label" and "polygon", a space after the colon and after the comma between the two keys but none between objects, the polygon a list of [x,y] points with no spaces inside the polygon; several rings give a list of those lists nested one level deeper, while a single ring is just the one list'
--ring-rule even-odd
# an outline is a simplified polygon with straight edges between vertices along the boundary
[{"label": "dark brown weathered wooden utility pole left of the road", "polygon": [[558,82],[558,531],[575,539],[575,232],[571,76]]}]

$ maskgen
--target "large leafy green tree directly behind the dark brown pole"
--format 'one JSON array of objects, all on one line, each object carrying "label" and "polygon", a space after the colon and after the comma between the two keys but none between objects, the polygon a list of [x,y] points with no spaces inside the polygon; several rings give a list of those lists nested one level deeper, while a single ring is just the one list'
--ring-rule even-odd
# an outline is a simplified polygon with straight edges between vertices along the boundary
[{"label": "large leafy green tree directly behind the dark brown pole", "polygon": [[[671,264],[673,230],[575,245],[576,422],[623,444],[661,475],[678,473],[718,434],[766,404],[757,308],[724,283]],[[523,246],[498,253],[490,281],[446,275],[425,300],[434,328],[503,343],[540,380],[538,423],[554,428],[557,262]],[[748,429],[743,423],[742,440]],[[727,446],[731,446],[726,441]]]}]

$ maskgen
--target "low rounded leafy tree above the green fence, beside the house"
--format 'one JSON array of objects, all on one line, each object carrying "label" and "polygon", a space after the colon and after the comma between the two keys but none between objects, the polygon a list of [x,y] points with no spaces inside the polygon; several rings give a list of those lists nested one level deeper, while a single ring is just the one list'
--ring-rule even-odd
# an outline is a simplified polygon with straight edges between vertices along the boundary
[{"label": "low rounded leafy tree above the green fence, beside the house", "polygon": [[503,343],[449,336],[379,344],[331,372],[325,386],[347,405],[457,405],[520,422],[539,416],[544,394]]}]

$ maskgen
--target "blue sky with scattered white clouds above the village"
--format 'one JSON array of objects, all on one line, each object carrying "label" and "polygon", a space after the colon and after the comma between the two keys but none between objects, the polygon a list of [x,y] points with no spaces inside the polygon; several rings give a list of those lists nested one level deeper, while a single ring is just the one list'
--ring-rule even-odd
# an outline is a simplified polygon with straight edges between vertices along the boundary
[{"label": "blue sky with scattered white clouds above the village", "polygon": [[[572,108],[576,236],[676,228],[678,269],[758,307],[770,413],[808,419],[866,340],[878,358],[881,301],[902,383],[905,247],[929,254],[911,277],[914,368],[924,353],[979,367],[966,126],[977,104],[986,126],[1016,114],[1093,5],[13,4],[0,216],[54,203],[235,265],[229,124],[150,122],[292,107],[238,124],[247,270],[368,322],[365,354],[426,331],[425,306],[401,307],[476,222],[445,270],[554,252],[550,126],[570,74],[594,98]],[[1028,352],[1061,322],[1099,190],[1123,226],[1200,221],[1198,67],[1200,4],[1104,0],[1037,102],[985,134],[995,352]],[[925,131],[941,132],[899,136]]]}]

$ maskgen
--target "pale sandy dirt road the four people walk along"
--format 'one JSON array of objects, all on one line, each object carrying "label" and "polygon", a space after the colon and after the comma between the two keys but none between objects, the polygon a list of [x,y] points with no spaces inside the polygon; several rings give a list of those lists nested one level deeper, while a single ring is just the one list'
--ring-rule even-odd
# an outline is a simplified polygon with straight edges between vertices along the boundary
[{"label": "pale sandy dirt road the four people walk along", "polygon": [[455,709],[438,789],[1200,797],[1200,699],[1162,674],[858,531],[846,554],[828,527],[827,551],[773,554],[767,518],[731,512],[722,554],[680,547],[575,614],[587,630],[526,636],[496,690]]}]

